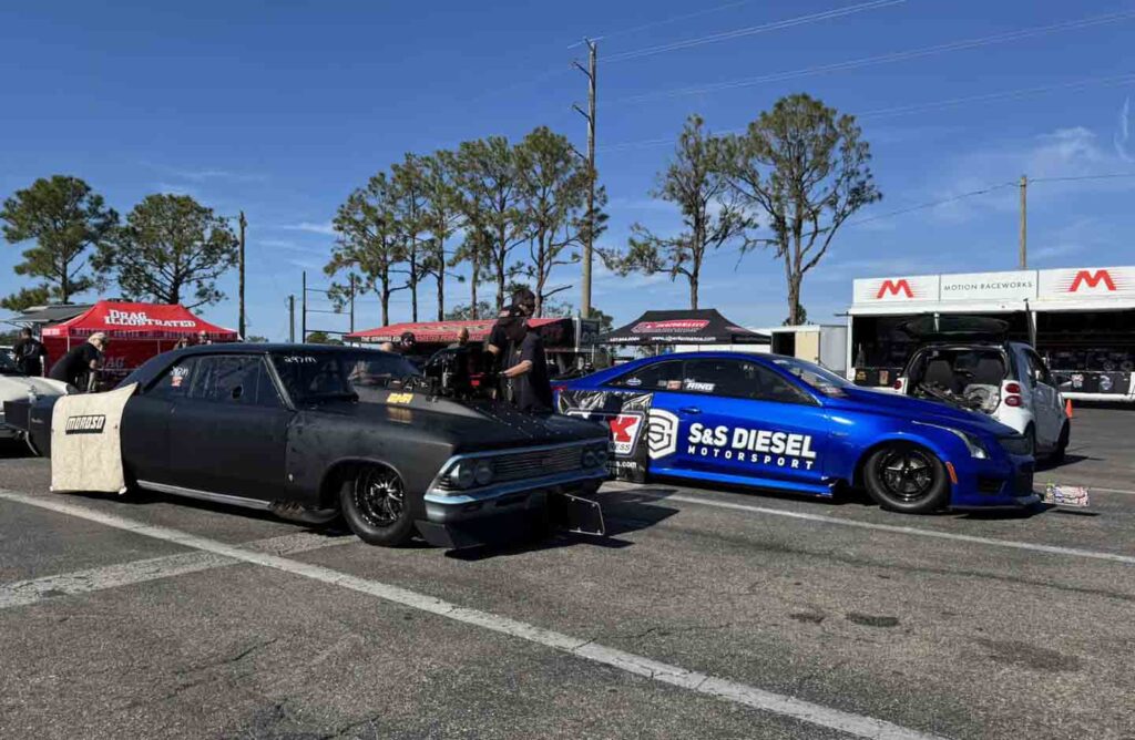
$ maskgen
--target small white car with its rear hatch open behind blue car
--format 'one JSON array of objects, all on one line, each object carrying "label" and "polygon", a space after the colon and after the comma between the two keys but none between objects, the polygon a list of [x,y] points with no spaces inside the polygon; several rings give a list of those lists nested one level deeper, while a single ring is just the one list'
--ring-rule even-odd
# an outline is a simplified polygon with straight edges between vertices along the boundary
[{"label": "small white car with its rear hatch open behind blue car", "polygon": [[920,336],[907,329],[931,340],[910,355],[894,388],[993,417],[1025,435],[1035,457],[1059,462],[1071,432],[1060,388],[1032,346],[994,338],[998,333],[989,330],[997,328],[991,327],[994,321],[1003,335],[1007,325],[991,319],[978,325],[984,331],[973,323],[966,325],[966,331],[959,323],[953,330],[941,327]]}]

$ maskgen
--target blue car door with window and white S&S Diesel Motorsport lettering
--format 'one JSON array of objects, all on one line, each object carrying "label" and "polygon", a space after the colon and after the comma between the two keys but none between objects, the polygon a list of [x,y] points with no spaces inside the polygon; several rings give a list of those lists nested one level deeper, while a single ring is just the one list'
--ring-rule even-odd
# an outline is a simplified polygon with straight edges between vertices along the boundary
[{"label": "blue car door with window and white S&S Diesel Motorsport lettering", "polygon": [[673,411],[674,463],[706,480],[825,493],[829,420],[812,394],[759,361],[697,358],[681,390],[655,395]]}]

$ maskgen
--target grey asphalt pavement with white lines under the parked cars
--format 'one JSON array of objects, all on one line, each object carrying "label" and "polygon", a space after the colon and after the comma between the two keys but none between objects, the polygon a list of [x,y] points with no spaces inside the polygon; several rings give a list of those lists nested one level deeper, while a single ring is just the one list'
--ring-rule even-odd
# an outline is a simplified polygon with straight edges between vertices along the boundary
[{"label": "grey asphalt pavement with white lines under the parked cars", "polygon": [[608,485],[609,535],[446,553],[0,455],[2,738],[1135,739],[1135,410],[1036,482],[903,516]]}]

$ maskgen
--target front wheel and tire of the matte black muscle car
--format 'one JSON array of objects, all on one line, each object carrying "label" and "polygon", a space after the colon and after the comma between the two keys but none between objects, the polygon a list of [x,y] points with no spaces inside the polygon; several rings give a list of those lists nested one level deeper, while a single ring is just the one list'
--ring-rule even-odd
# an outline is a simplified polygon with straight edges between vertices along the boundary
[{"label": "front wheel and tire of the matte black muscle car", "polygon": [[361,465],[344,477],[339,510],[347,527],[368,545],[400,547],[414,533],[402,479],[384,465]]}]

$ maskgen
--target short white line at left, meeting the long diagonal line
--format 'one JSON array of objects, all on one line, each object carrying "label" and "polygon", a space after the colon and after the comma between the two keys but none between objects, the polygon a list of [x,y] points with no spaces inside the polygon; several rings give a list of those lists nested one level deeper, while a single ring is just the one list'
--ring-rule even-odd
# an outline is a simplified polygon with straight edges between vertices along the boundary
[{"label": "short white line at left, meeting the long diagonal line", "polygon": [[[354,537],[327,537],[326,535],[299,532],[244,543],[241,547],[276,555],[289,555],[354,541],[358,541]],[[194,550],[70,573],[44,575],[25,581],[12,581],[0,585],[0,609],[27,606],[65,595],[90,594],[91,591],[144,583],[186,573],[199,573],[213,567],[235,565],[238,562],[232,557]]]}]

